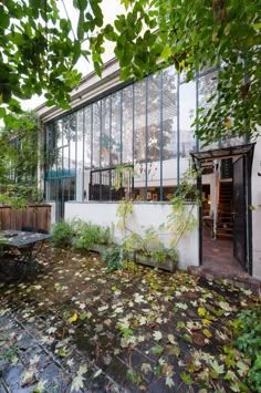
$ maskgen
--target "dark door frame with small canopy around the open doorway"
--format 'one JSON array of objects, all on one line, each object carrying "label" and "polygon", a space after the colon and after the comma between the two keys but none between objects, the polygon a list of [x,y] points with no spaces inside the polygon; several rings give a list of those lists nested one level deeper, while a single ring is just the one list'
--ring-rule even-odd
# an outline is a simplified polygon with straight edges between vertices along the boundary
[{"label": "dark door frame with small canopy around the open doorway", "polygon": [[[247,272],[252,276],[252,161],[255,143],[239,146],[229,146],[210,151],[191,152],[194,167],[200,172],[201,162],[205,159],[229,158],[232,156],[246,156],[244,159],[244,189],[246,189],[246,267]],[[201,196],[202,180],[201,175],[197,177],[197,190]],[[199,265],[202,265],[202,207],[198,208],[198,230],[199,230]]]}]

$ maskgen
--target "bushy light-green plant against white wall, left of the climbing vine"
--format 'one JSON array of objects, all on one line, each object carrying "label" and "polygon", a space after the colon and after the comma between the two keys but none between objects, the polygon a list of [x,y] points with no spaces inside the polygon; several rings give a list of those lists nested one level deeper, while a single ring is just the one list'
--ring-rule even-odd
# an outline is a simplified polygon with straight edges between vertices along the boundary
[{"label": "bushy light-green plant against white wall, left of the climbing vine", "polygon": [[76,237],[73,244],[75,248],[90,249],[93,245],[108,245],[112,242],[112,235],[108,227],[85,223],[81,219],[74,220],[72,226]]}]

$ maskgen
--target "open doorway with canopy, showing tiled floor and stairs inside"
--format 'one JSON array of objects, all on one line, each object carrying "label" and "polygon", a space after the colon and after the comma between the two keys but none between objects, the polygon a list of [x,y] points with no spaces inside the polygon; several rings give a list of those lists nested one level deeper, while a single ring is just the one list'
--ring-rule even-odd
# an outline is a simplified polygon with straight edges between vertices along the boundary
[{"label": "open doorway with canopy, showing tiled floor and stairs inside", "polygon": [[251,273],[253,145],[192,153],[201,168],[200,260],[210,273]]}]

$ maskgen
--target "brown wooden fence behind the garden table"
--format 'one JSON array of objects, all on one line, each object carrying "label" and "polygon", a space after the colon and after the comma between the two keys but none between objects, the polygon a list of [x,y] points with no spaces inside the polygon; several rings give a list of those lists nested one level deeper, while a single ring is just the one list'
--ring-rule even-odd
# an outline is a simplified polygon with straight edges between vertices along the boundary
[{"label": "brown wooden fence behind the garden table", "polygon": [[51,206],[33,205],[22,209],[0,207],[0,229],[21,230],[30,228],[33,231],[51,229]]}]

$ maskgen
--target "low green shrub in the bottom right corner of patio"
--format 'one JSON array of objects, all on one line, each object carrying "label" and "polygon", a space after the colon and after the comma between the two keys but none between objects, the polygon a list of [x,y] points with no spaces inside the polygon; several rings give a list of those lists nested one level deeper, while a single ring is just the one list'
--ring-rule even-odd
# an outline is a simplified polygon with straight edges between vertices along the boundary
[{"label": "low green shrub in the bottom right corner of patio", "polygon": [[254,392],[261,392],[261,308],[243,310],[233,321],[238,337],[237,347],[251,359],[252,366],[246,376],[246,382]]}]

